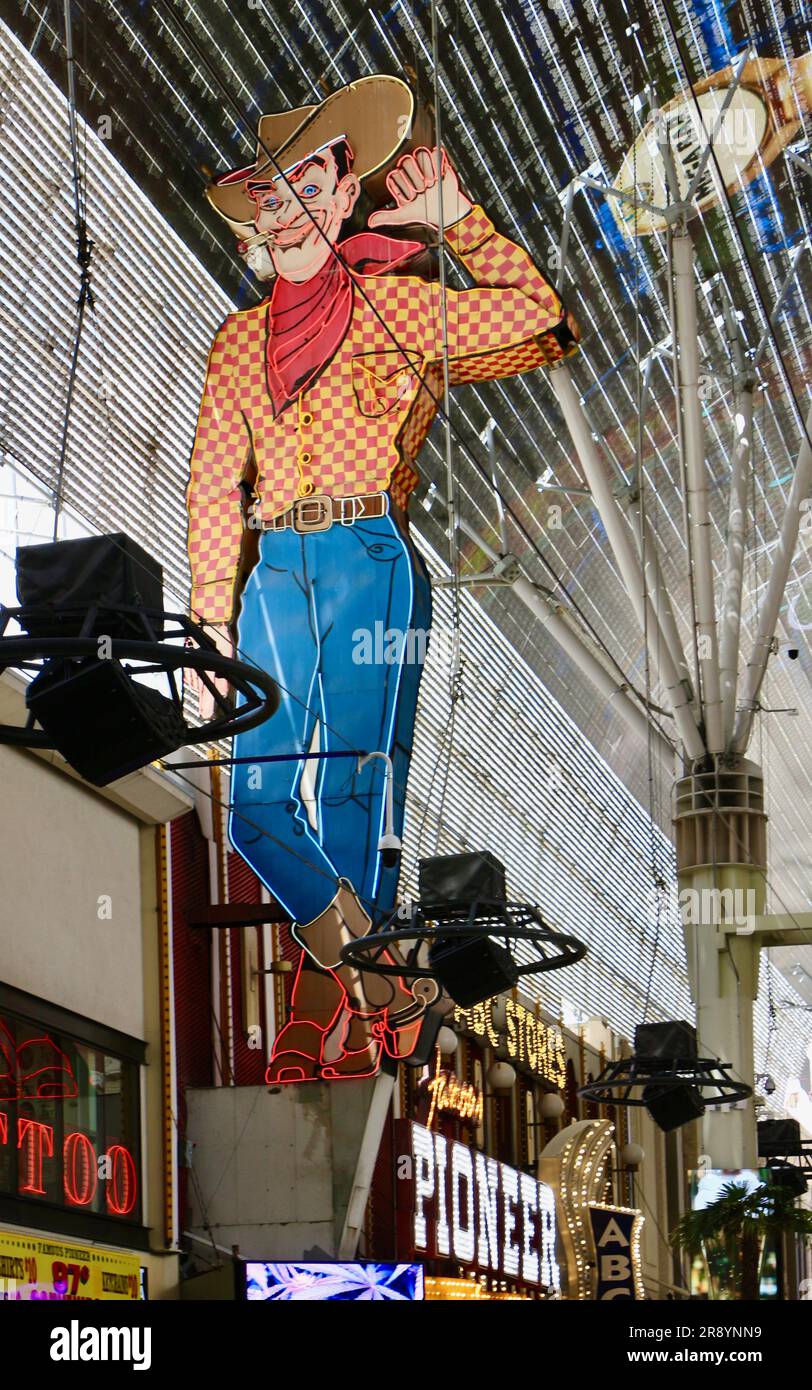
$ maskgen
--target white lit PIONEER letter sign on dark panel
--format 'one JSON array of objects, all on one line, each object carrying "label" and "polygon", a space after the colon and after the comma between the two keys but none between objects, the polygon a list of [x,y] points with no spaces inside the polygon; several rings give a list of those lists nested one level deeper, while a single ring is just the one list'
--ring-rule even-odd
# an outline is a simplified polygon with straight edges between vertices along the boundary
[{"label": "white lit PIONEER letter sign on dark panel", "polygon": [[508,1163],[405,1122],[412,1180],[400,1209],[403,1245],[482,1273],[558,1290],[555,1197]]}]

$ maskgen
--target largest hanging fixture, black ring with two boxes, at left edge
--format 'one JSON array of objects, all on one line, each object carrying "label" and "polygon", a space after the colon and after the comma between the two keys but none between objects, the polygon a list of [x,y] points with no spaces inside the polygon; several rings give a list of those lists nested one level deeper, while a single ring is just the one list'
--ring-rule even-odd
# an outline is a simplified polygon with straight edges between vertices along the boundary
[{"label": "largest hanging fixture, black ring with two boxes, at left edge", "polygon": [[[253,728],[279,703],[266,671],[224,656],[185,614],[164,612],[160,564],[125,535],[21,546],[17,592],[19,607],[0,607],[0,673],[29,677],[29,717],[0,724],[0,742],[56,748],[96,787],[189,744]],[[7,635],[14,626],[24,635]],[[214,699],[214,716],[199,727],[185,719],[182,670],[196,671]]]}]

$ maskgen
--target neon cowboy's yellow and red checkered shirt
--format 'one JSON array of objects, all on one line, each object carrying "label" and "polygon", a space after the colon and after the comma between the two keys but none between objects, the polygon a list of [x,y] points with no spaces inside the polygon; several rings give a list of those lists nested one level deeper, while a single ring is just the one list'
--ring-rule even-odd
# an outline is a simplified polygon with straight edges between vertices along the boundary
[{"label": "neon cowboy's yellow and red checkered shirt", "polygon": [[[562,349],[552,332],[563,318],[556,292],[481,207],[448,228],[446,242],[474,281],[446,292],[452,385],[531,371],[574,350],[574,343]],[[409,274],[353,272],[353,279],[338,352],[278,417],[266,375],[270,302],[229,314],[217,332],[186,492],[190,606],[203,621],[227,623],[234,613],[239,484],[252,455],[254,516],[266,521],[314,493],[389,491],[405,507],[419,481],[414,460],[442,382],[439,286]]]}]

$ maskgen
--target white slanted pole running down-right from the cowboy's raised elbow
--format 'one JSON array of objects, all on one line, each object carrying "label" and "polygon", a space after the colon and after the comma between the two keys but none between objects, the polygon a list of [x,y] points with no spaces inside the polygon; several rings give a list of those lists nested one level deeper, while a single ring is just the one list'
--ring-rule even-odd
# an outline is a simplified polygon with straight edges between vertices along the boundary
[{"label": "white slanted pole running down-right from the cowboy's raised elbow", "polygon": [[683,741],[685,756],[695,762],[705,755],[705,745],[690,706],[688,691],[680,680],[680,673],[669,652],[653,605],[645,599],[645,582],[635,555],[634,541],[612,492],[603,460],[595,448],[595,441],[584,420],[580,398],[569,367],[566,364],[556,366],[551,371],[549,379],[573,438],[592,499],[609,537],[609,545],[617,562],[620,578],[631,599],[640,628],[642,632],[648,628],[655,667],[669,694],[674,723]]}]

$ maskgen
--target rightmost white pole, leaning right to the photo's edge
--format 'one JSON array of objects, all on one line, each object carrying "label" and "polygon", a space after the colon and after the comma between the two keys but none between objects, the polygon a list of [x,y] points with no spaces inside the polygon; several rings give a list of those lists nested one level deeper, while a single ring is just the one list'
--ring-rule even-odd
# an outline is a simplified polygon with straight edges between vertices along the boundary
[{"label": "rightmost white pole, leaning right to the photo's edge", "polygon": [[758,709],[758,698],[773,646],[781,599],[784,596],[784,589],[793,567],[795,546],[798,543],[801,516],[809,514],[809,496],[812,492],[812,449],[809,448],[811,431],[812,406],[809,407],[809,413],[806,416],[806,435],[801,446],[801,453],[798,455],[790,496],[787,498],[781,537],[772,555],[773,569],[759,614],[758,632],[752,655],[744,673],[741,710],[733,734],[733,752],[736,753],[744,753],[749,742],[752,721]]}]

